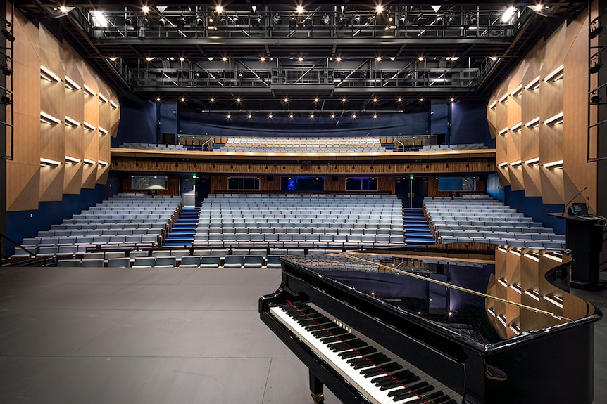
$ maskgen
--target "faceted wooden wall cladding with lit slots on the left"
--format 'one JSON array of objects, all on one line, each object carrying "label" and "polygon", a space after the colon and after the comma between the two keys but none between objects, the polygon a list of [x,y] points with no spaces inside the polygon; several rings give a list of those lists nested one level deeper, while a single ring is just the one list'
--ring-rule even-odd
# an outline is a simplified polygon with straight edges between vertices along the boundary
[{"label": "faceted wooden wall cladding with lit slots on the left", "polygon": [[[8,211],[35,210],[38,202],[59,201],[63,194],[106,182],[110,166],[99,160],[110,162],[110,136],[118,130],[120,105],[68,44],[18,12],[13,20],[14,158],[7,164],[6,205]],[[56,79],[42,78],[42,66]],[[85,85],[95,94],[87,96]],[[99,101],[99,91],[106,101]],[[41,112],[61,122],[41,122]],[[107,133],[100,133],[99,126]],[[68,163],[66,157],[78,161]],[[58,166],[41,167],[41,158]]]}]

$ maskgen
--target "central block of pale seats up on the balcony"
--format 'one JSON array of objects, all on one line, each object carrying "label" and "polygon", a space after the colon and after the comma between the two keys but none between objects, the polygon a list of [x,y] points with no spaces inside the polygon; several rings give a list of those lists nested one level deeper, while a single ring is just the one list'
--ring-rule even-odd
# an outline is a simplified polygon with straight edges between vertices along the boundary
[{"label": "central block of pale seats up on the balcony", "polygon": [[230,137],[220,152],[368,153],[388,152],[374,137]]}]

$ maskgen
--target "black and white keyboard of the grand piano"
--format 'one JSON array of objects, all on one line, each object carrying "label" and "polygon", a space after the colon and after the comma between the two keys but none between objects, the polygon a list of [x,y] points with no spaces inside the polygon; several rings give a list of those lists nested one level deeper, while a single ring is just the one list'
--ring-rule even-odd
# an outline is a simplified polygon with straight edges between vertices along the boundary
[{"label": "black and white keyboard of the grand piano", "polygon": [[[270,308],[277,320],[371,403],[457,404],[461,396],[308,304]],[[370,342],[370,343],[368,343]],[[396,358],[393,360],[392,357]]]}]

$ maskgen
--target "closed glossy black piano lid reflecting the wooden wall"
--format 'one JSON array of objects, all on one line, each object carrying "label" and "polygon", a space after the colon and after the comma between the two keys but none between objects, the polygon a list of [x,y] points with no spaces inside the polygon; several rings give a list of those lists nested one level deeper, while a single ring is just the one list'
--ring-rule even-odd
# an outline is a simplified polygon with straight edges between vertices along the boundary
[{"label": "closed glossy black piano lid reflecting the wooden wall", "polygon": [[570,257],[545,250],[470,243],[283,261],[485,351],[601,318],[594,305],[557,287]]}]

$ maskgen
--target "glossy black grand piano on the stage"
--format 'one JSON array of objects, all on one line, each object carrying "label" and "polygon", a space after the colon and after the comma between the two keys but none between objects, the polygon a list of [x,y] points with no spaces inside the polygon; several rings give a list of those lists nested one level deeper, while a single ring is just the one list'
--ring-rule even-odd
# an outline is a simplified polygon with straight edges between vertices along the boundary
[{"label": "glossy black grand piano on the stage", "polygon": [[261,319],[308,367],[315,403],[593,399],[594,322],[571,259],[481,244],[282,259]]}]

